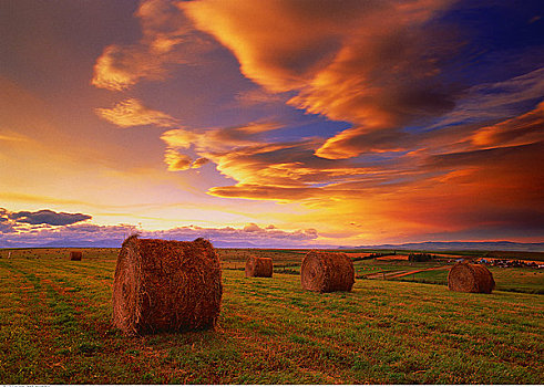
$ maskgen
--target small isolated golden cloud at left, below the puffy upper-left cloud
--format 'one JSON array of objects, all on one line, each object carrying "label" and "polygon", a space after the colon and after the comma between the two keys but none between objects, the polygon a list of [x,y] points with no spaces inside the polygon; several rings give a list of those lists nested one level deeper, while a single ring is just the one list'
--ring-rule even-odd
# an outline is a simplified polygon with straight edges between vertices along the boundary
[{"label": "small isolated golden cloud at left, below the puffy upper-left cloud", "polygon": [[177,121],[166,113],[153,111],[136,98],[122,101],[112,108],[96,108],[95,112],[100,117],[121,127],[144,125],[171,127],[177,124]]}]

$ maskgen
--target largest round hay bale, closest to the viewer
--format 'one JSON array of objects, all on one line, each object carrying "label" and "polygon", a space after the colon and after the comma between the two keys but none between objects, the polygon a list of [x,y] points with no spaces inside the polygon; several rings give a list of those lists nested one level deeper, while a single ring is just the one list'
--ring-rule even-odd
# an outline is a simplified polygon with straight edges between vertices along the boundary
[{"label": "largest round hay bale, closest to the viewer", "polygon": [[113,324],[127,334],[215,326],[223,294],[219,258],[207,240],[129,237],[113,285]]}]

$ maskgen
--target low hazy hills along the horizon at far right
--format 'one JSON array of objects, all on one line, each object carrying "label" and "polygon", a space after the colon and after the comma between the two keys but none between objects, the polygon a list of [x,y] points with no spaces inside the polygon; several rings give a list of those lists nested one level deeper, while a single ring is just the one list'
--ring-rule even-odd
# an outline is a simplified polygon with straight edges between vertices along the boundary
[{"label": "low hazy hills along the horizon at far right", "polygon": [[535,251],[544,252],[544,243],[519,242],[420,242],[401,244],[358,245],[356,249],[430,250],[430,251]]}]

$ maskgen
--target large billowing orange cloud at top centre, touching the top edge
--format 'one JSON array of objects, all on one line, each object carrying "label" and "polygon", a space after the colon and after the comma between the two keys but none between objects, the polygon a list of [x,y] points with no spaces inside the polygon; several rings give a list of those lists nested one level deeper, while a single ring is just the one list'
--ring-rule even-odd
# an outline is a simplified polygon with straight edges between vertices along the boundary
[{"label": "large billowing orange cloud at top centre, touching the top edge", "polygon": [[297,92],[288,102],[296,107],[353,123],[316,153],[350,158],[391,150],[379,140],[391,133],[373,132],[394,133],[453,108],[438,63],[456,45],[449,32],[423,29],[449,4],[201,0],[178,7],[233,51],[245,76],[271,92]]}]

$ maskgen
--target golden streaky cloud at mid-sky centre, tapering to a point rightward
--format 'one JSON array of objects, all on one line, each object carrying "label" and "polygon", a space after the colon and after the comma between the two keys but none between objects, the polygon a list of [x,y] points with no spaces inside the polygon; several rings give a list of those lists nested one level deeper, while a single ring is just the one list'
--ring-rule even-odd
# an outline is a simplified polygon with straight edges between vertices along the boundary
[{"label": "golden streaky cloud at mid-sky centre, tapering to a point rightward", "polygon": [[[168,149],[192,149],[215,163],[224,175],[249,184],[301,187],[322,182],[325,175],[331,178],[356,172],[355,169],[346,168],[346,164],[340,166],[316,157],[314,149],[319,139],[281,143],[267,142],[263,137],[265,133],[277,128],[276,124],[261,123],[206,130],[173,129],[165,132],[161,138]],[[312,177],[316,174],[322,177]]]}]

